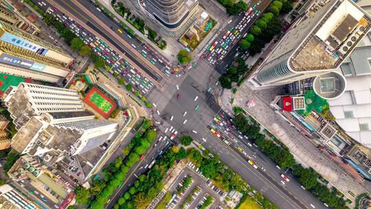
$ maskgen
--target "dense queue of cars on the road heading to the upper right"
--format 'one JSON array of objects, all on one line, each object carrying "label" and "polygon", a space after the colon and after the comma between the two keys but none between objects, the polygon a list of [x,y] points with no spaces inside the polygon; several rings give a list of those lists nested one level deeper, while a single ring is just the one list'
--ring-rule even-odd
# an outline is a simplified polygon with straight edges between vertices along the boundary
[{"label": "dense queue of cars on the road heading to the upper right", "polygon": [[260,14],[259,10],[256,10],[256,6],[260,4],[260,1],[253,5],[245,14],[243,18],[238,22],[238,24],[230,28],[220,39],[214,41],[212,45],[208,45],[203,54],[205,61],[214,65],[217,61],[221,61],[227,52],[236,44],[241,37],[245,37],[246,33],[243,34],[243,31],[247,29],[247,24],[250,21]]}]

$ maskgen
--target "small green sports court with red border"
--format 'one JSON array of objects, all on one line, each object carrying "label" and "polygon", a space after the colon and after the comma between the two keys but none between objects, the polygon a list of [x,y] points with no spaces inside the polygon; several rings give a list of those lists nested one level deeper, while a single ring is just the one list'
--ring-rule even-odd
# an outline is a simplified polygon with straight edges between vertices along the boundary
[{"label": "small green sports court with red border", "polygon": [[87,96],[84,98],[84,102],[89,104],[95,111],[98,111],[104,118],[109,118],[109,115],[117,106],[115,102],[95,87],[89,90]]}]

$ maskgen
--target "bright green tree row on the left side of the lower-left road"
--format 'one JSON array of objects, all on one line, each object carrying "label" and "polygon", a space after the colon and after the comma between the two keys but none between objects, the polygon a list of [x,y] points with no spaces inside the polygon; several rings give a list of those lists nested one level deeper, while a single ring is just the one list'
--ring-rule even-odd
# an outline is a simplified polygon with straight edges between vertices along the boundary
[{"label": "bright green tree row on the left side of the lower-left road", "polygon": [[90,204],[91,208],[104,208],[104,204],[109,200],[113,191],[122,184],[130,168],[139,162],[139,156],[144,154],[150,143],[155,140],[157,133],[150,129],[151,125],[150,121],[144,121],[142,129],[126,146],[129,150],[127,155],[117,157],[114,162],[102,170],[104,179],[93,181],[89,190],[81,186],[75,189],[77,203]]}]

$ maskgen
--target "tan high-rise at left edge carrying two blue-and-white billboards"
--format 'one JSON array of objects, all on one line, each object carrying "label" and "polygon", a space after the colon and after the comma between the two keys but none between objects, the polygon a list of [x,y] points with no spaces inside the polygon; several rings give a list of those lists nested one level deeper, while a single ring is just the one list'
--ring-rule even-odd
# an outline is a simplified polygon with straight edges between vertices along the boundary
[{"label": "tan high-rise at left edge carrying two blue-and-white billboards", "polygon": [[0,72],[57,83],[74,61],[60,47],[0,21]]}]

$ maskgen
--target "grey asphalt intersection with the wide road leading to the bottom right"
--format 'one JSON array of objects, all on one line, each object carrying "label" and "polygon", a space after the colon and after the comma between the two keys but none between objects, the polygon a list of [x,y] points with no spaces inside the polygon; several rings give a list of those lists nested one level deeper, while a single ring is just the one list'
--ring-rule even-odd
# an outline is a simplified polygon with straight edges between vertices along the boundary
[{"label": "grey asphalt intersection with the wide road leading to the bottom right", "polygon": [[[192,135],[205,148],[208,148],[212,153],[217,153],[227,166],[230,166],[251,186],[260,190],[265,197],[271,199],[280,208],[311,208],[311,204],[316,208],[326,208],[311,193],[303,190],[295,179],[291,178],[291,181],[282,186],[280,175],[284,173],[284,170],[276,168],[276,164],[261,153],[258,148],[251,148],[245,140],[240,140],[236,136],[238,132],[234,132],[233,138],[248,155],[256,156],[254,162],[259,166],[258,169],[247,163],[247,157],[240,153],[236,146],[228,146],[212,135],[210,124],[214,115],[221,109],[214,98],[214,91],[218,91],[218,86],[215,86],[216,75],[210,76],[210,74],[215,74],[214,69],[205,61],[200,60],[196,69],[192,69],[187,76],[175,80],[165,87],[168,91],[163,94],[153,93],[155,96],[151,99],[156,102],[160,111],[160,115],[154,114],[155,120],[164,121],[164,128],[174,126],[179,130],[179,133]],[[210,87],[213,89],[211,92],[207,91]],[[178,98],[178,94],[180,98]],[[196,96],[198,98],[194,101]],[[198,111],[194,109],[196,105],[200,106]],[[187,114],[183,117],[185,111]],[[171,116],[174,116],[172,121],[170,121]],[[183,124],[184,120],[187,120],[186,124]],[[202,138],[206,141],[203,142]],[[261,167],[264,167],[265,170],[262,170]]]}]

